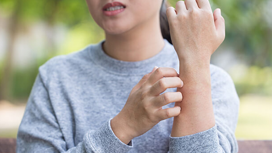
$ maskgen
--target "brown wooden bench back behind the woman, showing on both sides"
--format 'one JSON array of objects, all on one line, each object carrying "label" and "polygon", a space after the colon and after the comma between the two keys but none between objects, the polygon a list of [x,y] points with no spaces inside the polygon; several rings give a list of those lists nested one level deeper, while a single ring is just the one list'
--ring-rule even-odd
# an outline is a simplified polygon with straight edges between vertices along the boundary
[{"label": "brown wooden bench back behind the woman, showing on both sides", "polygon": [[[238,140],[239,153],[272,153],[272,140]],[[0,138],[0,153],[15,153],[16,139]]]}]

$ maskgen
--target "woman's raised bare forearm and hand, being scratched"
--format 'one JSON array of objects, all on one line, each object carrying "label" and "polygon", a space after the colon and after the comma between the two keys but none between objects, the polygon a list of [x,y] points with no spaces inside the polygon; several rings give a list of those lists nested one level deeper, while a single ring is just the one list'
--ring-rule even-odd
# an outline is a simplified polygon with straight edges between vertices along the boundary
[{"label": "woman's raised bare forearm and hand, being scratched", "polygon": [[185,0],[176,10],[166,11],[171,39],[180,61],[184,98],[180,115],[174,117],[171,136],[180,137],[205,131],[215,125],[211,100],[209,63],[212,53],[225,39],[225,22],[220,9],[214,13],[208,0]]}]

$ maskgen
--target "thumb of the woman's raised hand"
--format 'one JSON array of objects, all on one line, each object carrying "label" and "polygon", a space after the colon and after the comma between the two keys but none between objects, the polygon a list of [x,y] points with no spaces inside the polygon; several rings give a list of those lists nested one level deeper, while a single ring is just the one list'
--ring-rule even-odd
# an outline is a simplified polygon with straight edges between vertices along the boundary
[{"label": "thumb of the woman's raised hand", "polygon": [[225,38],[225,20],[221,15],[220,9],[215,9],[213,12],[214,24],[217,34],[220,38],[224,40]]}]

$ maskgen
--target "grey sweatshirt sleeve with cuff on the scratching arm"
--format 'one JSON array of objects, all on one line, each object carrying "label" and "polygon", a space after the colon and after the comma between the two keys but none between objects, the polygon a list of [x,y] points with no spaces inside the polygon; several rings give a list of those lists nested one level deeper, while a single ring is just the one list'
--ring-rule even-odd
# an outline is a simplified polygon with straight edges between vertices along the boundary
[{"label": "grey sweatshirt sleeve with cuff on the scratching arm", "polygon": [[[59,127],[48,91],[38,73],[28,98],[24,117],[17,135],[17,153],[73,152],[73,153],[125,153],[133,148],[133,140],[123,143],[110,127],[109,118],[97,130],[89,130],[83,140],[67,148]],[[72,125],[71,125],[72,126]]]}]

